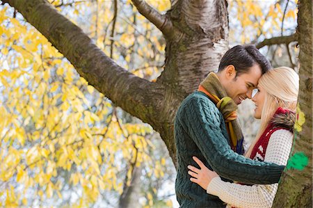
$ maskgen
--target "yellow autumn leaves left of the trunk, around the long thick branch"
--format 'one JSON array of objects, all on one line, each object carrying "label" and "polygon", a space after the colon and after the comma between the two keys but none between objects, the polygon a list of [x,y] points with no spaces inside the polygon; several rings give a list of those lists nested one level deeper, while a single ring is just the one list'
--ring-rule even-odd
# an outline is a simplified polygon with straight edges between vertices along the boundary
[{"label": "yellow autumn leaves left of the trunk, around the long thick branch", "polygon": [[[60,3],[57,0],[53,4]],[[97,42],[102,45],[110,43],[109,35],[106,40],[103,37],[105,26],[113,17],[108,6],[111,3],[99,1]],[[170,1],[149,3],[160,11],[170,6]],[[74,20],[75,14],[86,11],[77,5],[73,6],[70,17]],[[1,199],[4,199],[1,206],[31,207],[33,198],[41,202],[47,198],[67,198],[67,193],[62,191],[67,184],[81,190],[75,203],[81,207],[98,200],[101,191],[122,193],[123,179],[118,175],[124,171],[123,164],[152,163],[148,150],[154,145],[145,137],[153,133],[152,128],[142,123],[124,123],[117,118],[120,113],[110,116],[115,108],[111,102],[93,86],[88,86],[44,36],[21,17],[13,18],[12,10],[7,8],[0,8],[0,63],[3,65],[0,96],[1,102],[5,102],[5,106],[0,104],[0,137],[3,138],[0,179],[15,186],[1,190]],[[142,18],[138,13],[136,16]],[[117,24],[117,31],[127,32],[117,32],[121,35],[115,37],[118,40],[115,47],[132,47],[134,42],[142,46],[138,50],[141,57],[136,48],[127,49],[135,53],[127,54],[121,65],[130,65],[136,60],[138,63],[131,63],[134,67],[145,66],[144,58],[150,56],[154,56],[156,63],[162,62],[165,45],[156,38],[161,33],[144,18],[137,20],[137,27],[125,20]],[[148,31],[149,39],[144,35],[146,31],[138,29],[140,24],[145,24],[143,29]],[[102,45],[99,47],[108,50]],[[157,56],[152,54],[152,47],[159,50]],[[118,52],[113,56],[120,58]],[[141,71],[149,77],[156,73],[152,67]],[[161,171],[157,171],[161,175]],[[63,175],[69,175],[70,179]],[[34,193],[31,196],[26,194],[29,189]]]}]

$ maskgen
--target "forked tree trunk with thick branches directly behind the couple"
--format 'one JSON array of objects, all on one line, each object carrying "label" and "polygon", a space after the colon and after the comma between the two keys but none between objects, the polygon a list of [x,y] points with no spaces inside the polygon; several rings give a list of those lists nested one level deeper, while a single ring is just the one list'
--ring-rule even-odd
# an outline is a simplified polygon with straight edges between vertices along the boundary
[{"label": "forked tree trunk with thick branches directly behind the couple", "polygon": [[[150,82],[134,76],[106,56],[81,29],[45,0],[1,0],[35,26],[74,65],[81,77],[131,115],[158,131],[176,166],[173,120],[182,99],[217,70],[227,51],[227,2],[177,0],[166,15],[133,0],[166,38],[165,68]],[[152,16],[154,15],[154,16]],[[162,22],[163,21],[163,22]]]}]

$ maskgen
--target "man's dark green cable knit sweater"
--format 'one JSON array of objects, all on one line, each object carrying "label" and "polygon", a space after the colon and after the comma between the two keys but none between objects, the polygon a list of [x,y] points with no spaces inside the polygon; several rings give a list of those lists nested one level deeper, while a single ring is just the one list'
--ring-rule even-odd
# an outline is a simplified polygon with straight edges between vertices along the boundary
[{"label": "man's dark green cable knit sweater", "polygon": [[177,111],[174,131],[178,161],[175,191],[181,207],[225,207],[216,196],[190,181],[187,166],[198,167],[193,156],[221,177],[246,184],[277,183],[284,169],[233,152],[223,115],[204,93],[195,92],[184,99]]}]

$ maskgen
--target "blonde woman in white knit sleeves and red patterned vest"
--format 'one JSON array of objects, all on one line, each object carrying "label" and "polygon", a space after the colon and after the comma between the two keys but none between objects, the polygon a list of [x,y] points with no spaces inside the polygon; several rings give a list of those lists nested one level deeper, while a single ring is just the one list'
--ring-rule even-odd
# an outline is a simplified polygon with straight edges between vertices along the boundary
[{"label": "blonde woman in white knit sleeves and red patterned vest", "polygon": [[[257,136],[246,157],[286,165],[293,141],[294,112],[298,97],[299,77],[289,67],[278,67],[266,72],[260,79],[254,117],[261,119]],[[188,166],[191,182],[199,184],[207,193],[216,195],[234,207],[271,207],[278,184],[253,185],[223,182],[196,157],[201,169]]]}]

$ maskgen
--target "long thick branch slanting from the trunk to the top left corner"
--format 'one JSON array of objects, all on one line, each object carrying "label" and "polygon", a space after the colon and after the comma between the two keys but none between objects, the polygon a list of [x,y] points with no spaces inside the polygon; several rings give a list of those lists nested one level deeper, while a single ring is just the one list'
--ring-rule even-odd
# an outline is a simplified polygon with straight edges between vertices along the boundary
[{"label": "long thick branch slanting from the trunk to the top left corner", "polygon": [[[155,130],[172,124],[182,97],[159,83],[134,76],[106,56],[81,29],[45,0],[10,0],[76,68],[81,77],[111,101]],[[171,134],[168,132],[168,134]]]}]

